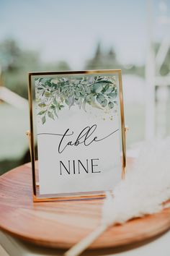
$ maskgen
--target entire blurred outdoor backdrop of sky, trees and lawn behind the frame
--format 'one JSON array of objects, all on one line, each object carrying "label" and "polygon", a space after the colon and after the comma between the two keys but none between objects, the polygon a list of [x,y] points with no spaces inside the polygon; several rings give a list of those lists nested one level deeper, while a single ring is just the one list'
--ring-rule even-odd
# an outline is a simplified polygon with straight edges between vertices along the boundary
[{"label": "entire blurred outdoor backdrop of sky, trees and lawn behind the frame", "polygon": [[27,72],[122,69],[128,149],[170,135],[169,0],[0,0],[0,174],[29,161]]}]

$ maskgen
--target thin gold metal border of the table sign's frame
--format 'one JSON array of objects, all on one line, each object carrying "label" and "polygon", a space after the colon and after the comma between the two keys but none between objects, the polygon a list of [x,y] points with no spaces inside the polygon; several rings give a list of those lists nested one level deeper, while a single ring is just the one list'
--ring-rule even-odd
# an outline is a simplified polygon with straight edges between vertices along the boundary
[{"label": "thin gold metal border of the table sign's frame", "polygon": [[[121,140],[122,140],[122,179],[125,177],[126,166],[126,142],[125,142],[125,117],[122,95],[122,73],[121,69],[100,69],[100,70],[83,70],[83,71],[65,71],[65,72],[29,72],[28,73],[28,98],[30,111],[30,131],[27,132],[30,142],[30,157],[32,163],[32,192],[33,202],[45,202],[54,200],[79,200],[88,198],[105,197],[104,192],[80,192],[73,195],[40,195],[38,182],[38,169],[35,163],[35,137],[34,137],[34,118],[33,118],[33,96],[32,96],[32,78],[36,76],[51,76],[51,75],[71,75],[71,74],[117,74],[119,82],[119,101],[120,101],[120,125],[121,125]],[[81,195],[80,195],[81,194]]]}]

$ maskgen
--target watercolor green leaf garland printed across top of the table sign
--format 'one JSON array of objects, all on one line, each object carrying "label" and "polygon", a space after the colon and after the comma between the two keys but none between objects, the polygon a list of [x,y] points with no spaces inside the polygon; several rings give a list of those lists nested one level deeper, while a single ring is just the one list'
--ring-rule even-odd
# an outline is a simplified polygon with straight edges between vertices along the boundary
[{"label": "watercolor green leaf garland printed across top of the table sign", "polygon": [[35,79],[37,115],[42,124],[47,117],[55,120],[62,108],[86,104],[94,108],[112,109],[117,106],[115,77],[41,77]]}]

